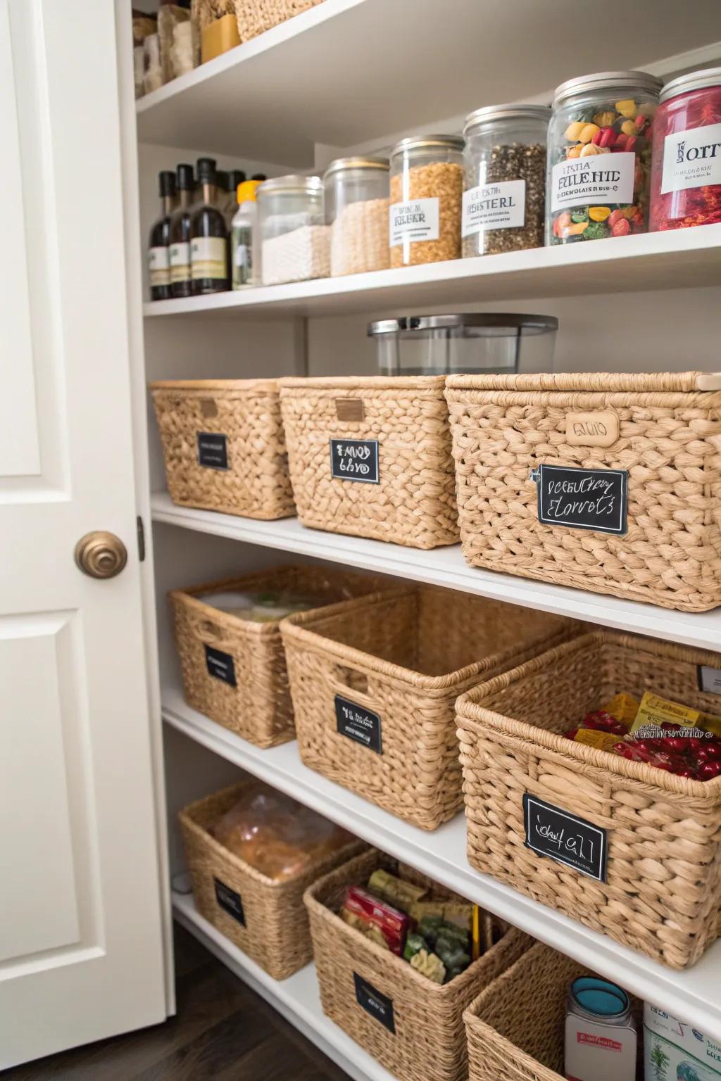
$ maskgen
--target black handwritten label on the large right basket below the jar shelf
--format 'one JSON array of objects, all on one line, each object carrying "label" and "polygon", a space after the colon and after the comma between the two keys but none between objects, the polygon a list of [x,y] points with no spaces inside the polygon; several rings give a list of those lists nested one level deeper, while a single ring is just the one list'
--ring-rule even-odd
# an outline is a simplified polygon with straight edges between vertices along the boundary
[{"label": "black handwritten label on the large right basket below the jar shelf", "polygon": [[618,535],[628,530],[627,469],[542,465],[531,476],[538,485],[539,522]]}]

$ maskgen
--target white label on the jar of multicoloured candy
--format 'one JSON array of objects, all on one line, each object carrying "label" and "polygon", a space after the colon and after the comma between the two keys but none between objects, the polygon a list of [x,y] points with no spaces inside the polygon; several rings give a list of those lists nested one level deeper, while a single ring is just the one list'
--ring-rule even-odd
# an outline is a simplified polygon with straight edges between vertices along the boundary
[{"label": "white label on the jar of multicoloured candy", "polygon": [[561,161],[551,171],[551,210],[595,203],[629,205],[635,172],[636,155],[625,150]]}]

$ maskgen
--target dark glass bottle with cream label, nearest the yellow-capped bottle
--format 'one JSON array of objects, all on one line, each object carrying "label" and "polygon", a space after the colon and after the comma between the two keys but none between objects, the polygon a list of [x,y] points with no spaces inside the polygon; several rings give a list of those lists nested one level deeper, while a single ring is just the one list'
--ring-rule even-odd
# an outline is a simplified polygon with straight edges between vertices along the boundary
[{"label": "dark glass bottle with cream label, nearest the yellow-capped bottle", "polygon": [[190,279],[193,296],[223,293],[228,281],[228,227],[218,209],[215,162],[198,161],[198,181],[202,193],[190,215]]}]

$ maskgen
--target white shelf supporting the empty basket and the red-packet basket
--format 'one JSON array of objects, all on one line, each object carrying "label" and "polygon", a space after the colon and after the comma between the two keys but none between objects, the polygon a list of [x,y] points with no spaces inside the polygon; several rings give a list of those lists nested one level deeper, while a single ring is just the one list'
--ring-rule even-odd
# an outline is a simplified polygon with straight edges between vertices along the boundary
[{"label": "white shelf supporting the empty basket and the red-packet basket", "polygon": [[466,859],[466,820],[463,815],[457,815],[435,832],[426,833],[307,769],[301,761],[296,743],[259,750],[190,709],[174,689],[163,692],[163,718],[186,736],[313,808],[389,855],[408,862],[560,952],[721,1040],[721,940],[693,969],[685,972],[666,969],[642,953],[629,950],[517,893],[510,886],[472,870]]}]

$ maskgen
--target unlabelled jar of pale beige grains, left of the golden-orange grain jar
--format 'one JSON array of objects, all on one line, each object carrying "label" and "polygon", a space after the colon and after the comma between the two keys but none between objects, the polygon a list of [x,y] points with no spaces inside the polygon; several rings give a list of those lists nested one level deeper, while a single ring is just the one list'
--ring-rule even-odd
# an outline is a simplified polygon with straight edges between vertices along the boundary
[{"label": "unlabelled jar of pale beige grains, left of the golden-orange grain jar", "polygon": [[331,275],[390,266],[387,158],[338,158],[329,165],[325,221],[331,226]]}]

